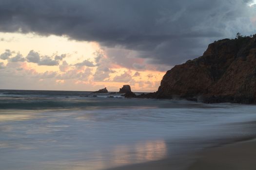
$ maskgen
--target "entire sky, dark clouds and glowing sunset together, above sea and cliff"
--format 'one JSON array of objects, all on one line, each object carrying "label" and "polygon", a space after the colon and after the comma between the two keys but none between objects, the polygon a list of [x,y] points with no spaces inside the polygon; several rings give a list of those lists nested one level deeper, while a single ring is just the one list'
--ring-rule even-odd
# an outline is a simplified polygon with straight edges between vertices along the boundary
[{"label": "entire sky, dark clouds and glowing sunset together, above sea and cliff", "polygon": [[0,0],[0,89],[152,92],[238,32],[256,0]]}]

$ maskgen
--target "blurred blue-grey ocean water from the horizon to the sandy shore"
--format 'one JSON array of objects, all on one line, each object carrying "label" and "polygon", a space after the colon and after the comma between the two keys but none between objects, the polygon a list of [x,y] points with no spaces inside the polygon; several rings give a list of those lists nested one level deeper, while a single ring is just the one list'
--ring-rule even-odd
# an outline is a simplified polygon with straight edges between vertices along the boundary
[{"label": "blurred blue-grey ocean water from the horizon to the sandy shore", "polygon": [[255,110],[86,91],[0,90],[0,170],[106,170],[166,158],[181,170],[204,148],[255,136]]}]

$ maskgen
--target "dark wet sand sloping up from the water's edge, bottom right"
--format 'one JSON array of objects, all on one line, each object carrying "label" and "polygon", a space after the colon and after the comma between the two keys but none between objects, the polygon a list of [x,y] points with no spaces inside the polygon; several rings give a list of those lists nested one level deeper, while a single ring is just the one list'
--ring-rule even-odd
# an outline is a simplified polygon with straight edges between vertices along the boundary
[{"label": "dark wet sand sloping up from the water's edge, bottom right", "polygon": [[204,149],[183,163],[163,159],[110,170],[256,170],[256,140]]}]

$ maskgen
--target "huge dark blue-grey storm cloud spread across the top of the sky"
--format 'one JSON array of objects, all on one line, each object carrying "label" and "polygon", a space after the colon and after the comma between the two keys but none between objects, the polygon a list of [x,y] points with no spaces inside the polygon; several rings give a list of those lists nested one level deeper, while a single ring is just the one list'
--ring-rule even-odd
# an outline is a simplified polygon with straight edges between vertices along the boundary
[{"label": "huge dark blue-grey storm cloud spread across the top of the sky", "polygon": [[253,34],[250,0],[0,0],[0,31],[67,35],[138,51],[153,63],[194,58],[213,40]]}]

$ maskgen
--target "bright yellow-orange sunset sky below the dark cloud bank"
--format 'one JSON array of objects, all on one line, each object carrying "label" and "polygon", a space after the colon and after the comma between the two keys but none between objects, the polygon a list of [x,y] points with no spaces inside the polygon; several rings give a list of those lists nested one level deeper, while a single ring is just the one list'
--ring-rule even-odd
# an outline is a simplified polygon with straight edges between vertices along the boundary
[{"label": "bright yellow-orange sunset sky below the dark cloud bank", "polygon": [[[125,49],[119,51],[125,53],[126,63],[118,63],[110,56],[113,50],[97,42],[55,35],[0,35],[1,55],[7,57],[0,59],[5,68],[1,75],[6,77],[0,88],[93,91],[107,87],[117,91],[129,84],[134,91],[156,91],[165,73]],[[26,81],[17,85],[17,80]]]}]

